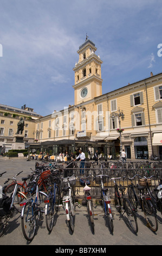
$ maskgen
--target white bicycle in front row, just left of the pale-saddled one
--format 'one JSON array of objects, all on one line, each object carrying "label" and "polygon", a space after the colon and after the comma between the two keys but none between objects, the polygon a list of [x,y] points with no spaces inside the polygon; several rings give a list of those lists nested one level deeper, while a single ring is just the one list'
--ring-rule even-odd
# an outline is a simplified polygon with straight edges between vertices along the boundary
[{"label": "white bicycle in front row, just left of the pale-saddled one", "polygon": [[69,228],[74,232],[74,216],[75,216],[75,192],[74,185],[76,183],[76,178],[74,175],[62,178],[62,192],[63,192],[63,208],[66,212],[66,218],[69,223]]}]

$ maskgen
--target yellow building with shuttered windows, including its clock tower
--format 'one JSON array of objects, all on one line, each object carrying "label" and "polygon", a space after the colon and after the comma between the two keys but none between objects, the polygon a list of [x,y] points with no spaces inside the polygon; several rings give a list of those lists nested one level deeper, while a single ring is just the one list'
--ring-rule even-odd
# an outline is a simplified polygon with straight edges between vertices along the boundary
[{"label": "yellow building with shuttered windows, including its clock tower", "polygon": [[[102,94],[102,60],[95,44],[79,47],[74,71],[74,105],[35,120],[35,139],[43,150],[94,151],[115,157],[122,149],[128,159],[162,158],[162,74]],[[119,118],[124,113],[124,120]],[[114,151],[115,149],[115,151]]]}]

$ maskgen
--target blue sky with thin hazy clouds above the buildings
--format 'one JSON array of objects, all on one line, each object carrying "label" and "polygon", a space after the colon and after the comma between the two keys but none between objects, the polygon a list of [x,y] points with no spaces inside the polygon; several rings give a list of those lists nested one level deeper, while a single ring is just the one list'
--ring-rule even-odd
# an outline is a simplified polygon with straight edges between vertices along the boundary
[{"label": "blue sky with thin hazy clouds above the buildings", "polygon": [[86,33],[103,60],[103,94],[162,72],[161,1],[3,0],[0,14],[0,103],[41,115],[74,104]]}]

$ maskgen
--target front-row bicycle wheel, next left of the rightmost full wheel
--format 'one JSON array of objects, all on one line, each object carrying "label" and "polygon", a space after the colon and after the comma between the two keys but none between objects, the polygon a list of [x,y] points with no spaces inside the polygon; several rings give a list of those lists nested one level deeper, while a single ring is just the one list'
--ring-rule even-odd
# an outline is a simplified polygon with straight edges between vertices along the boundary
[{"label": "front-row bicycle wheel, next left of the rightmost full wheel", "polygon": [[127,214],[129,225],[134,231],[134,233],[137,233],[138,232],[137,217],[133,212],[132,204],[127,198],[124,199],[124,202],[125,202],[125,211]]}]

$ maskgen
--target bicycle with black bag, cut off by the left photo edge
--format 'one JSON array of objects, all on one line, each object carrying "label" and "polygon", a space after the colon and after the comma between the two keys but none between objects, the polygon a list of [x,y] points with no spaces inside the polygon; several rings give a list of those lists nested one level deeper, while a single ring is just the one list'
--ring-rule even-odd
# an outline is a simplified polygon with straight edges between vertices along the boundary
[{"label": "bicycle with black bag, cut off by the left photo edge", "polygon": [[14,217],[15,210],[20,212],[17,204],[21,203],[24,199],[27,199],[22,192],[18,191],[16,176],[20,173],[17,173],[13,178],[4,182],[4,184],[6,184],[9,180],[13,180],[15,182],[15,188],[10,197],[3,193],[2,198],[0,199],[0,237],[3,235],[9,219]]}]

